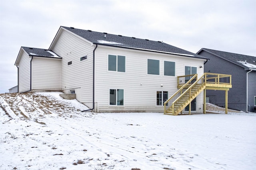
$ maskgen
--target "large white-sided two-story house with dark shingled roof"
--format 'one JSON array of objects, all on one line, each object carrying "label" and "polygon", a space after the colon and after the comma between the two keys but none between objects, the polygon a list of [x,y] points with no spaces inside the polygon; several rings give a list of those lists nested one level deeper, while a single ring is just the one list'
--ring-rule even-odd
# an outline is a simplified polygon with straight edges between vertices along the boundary
[{"label": "large white-sided two-story house with dark shingled roof", "polygon": [[[95,112],[164,112],[181,85],[204,74],[206,61],[161,41],[61,26],[49,49],[21,47],[15,65],[18,92],[75,93]],[[179,112],[202,113],[200,92]]]}]

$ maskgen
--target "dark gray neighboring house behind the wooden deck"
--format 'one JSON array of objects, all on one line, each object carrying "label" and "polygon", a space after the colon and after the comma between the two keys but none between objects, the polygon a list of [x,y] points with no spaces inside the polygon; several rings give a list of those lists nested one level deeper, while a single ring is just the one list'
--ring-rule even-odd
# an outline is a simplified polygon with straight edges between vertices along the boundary
[{"label": "dark gray neighboring house behind the wooden deck", "polygon": [[[204,72],[232,75],[232,88],[228,92],[228,108],[255,112],[256,108],[256,57],[202,48],[198,55],[210,59]],[[206,90],[209,102],[225,106],[225,93]]]}]

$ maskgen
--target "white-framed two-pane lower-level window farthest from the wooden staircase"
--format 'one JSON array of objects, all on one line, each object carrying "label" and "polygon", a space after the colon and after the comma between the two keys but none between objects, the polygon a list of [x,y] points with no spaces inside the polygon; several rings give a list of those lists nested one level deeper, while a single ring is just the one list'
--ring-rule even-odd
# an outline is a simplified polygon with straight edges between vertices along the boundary
[{"label": "white-framed two-pane lower-level window farthest from the wooden staircase", "polygon": [[109,105],[124,106],[124,89],[109,90]]}]

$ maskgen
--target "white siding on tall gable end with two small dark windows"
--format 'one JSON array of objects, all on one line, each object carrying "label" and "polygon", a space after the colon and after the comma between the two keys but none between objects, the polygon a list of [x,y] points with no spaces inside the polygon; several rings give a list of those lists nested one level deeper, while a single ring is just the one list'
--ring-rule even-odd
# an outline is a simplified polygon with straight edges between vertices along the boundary
[{"label": "white siding on tall gable end with two small dark windows", "polygon": [[[80,102],[91,108],[94,46],[76,35],[62,30],[52,50],[62,57],[61,90],[80,88]],[[87,55],[87,59],[80,61],[80,57],[85,55]],[[72,64],[68,65],[70,61]]]}]

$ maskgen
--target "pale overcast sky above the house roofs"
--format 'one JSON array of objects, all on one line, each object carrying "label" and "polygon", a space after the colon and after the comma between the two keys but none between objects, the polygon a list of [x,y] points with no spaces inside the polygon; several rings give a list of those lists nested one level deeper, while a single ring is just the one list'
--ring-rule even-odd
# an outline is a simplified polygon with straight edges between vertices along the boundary
[{"label": "pale overcast sky above the house roofs", "polygon": [[256,56],[256,0],[0,0],[0,93],[20,47],[48,49],[60,26]]}]

